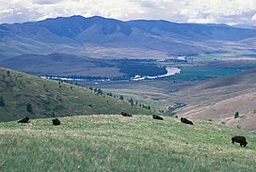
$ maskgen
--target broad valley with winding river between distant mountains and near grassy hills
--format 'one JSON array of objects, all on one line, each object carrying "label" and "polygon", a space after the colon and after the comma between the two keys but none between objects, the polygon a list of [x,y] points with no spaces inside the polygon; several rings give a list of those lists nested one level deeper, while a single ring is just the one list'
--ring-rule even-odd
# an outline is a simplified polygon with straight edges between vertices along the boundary
[{"label": "broad valley with winding river between distant mountains and near grassy hills", "polygon": [[[254,83],[248,85],[248,78],[256,68],[253,53],[183,55],[162,60],[103,59],[68,54],[19,55],[1,61],[0,66],[42,78],[101,88],[104,93],[150,105],[152,113],[212,119],[256,131],[251,122],[256,119],[253,105],[248,108],[247,105],[233,107],[230,104],[226,109],[215,105],[250,92],[253,94]],[[233,120],[236,111],[246,118]]]}]

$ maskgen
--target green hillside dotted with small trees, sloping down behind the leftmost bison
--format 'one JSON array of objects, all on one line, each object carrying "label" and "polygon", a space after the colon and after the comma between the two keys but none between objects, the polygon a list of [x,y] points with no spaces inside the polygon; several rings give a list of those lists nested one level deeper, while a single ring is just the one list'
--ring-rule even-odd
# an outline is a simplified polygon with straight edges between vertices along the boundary
[{"label": "green hillside dotted with small trees, sloping down behind the leftmost bison", "polygon": [[[0,69],[0,121],[20,117],[65,117],[78,114],[150,114],[152,112],[109,96],[98,95],[92,90],[67,83]],[[32,112],[26,106],[32,105]]]}]

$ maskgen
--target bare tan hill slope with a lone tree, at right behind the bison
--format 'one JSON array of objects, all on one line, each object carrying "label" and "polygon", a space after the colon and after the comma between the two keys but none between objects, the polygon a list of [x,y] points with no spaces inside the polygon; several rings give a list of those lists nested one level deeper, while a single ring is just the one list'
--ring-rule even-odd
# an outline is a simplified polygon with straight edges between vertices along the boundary
[{"label": "bare tan hill slope with a lone tree, at right behind the bison", "polygon": [[[244,130],[256,131],[256,70],[219,77],[182,92],[188,105],[179,116],[213,119]],[[173,98],[175,99],[175,98]],[[235,112],[240,117],[234,118]]]}]

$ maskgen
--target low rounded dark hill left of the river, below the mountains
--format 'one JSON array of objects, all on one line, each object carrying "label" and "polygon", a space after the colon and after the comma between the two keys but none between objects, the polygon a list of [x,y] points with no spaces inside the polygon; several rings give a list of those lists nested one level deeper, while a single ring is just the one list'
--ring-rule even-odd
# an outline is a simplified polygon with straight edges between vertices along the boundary
[{"label": "low rounded dark hill left of the river, below the mountains", "polygon": [[120,77],[123,73],[114,62],[78,55],[18,55],[1,61],[0,67],[54,76]]}]

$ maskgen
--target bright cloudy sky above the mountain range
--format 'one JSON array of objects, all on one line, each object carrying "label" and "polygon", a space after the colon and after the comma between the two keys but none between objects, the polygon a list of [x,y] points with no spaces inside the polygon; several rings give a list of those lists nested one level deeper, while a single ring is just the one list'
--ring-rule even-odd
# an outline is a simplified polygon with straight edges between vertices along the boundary
[{"label": "bright cloudy sky above the mountain range", "polygon": [[0,23],[72,15],[256,24],[256,0],[0,0]]}]

